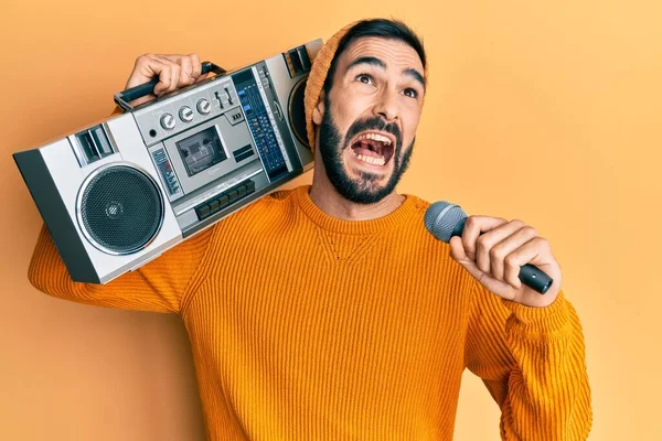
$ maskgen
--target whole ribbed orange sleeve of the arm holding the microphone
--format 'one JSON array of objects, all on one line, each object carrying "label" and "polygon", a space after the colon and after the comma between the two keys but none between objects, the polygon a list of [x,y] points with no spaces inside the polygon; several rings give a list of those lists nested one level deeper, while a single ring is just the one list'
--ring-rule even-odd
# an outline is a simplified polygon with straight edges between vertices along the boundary
[{"label": "whole ribbed orange sleeve of the arm holding the microphone", "polygon": [[474,283],[467,366],[501,407],[503,440],[586,440],[592,413],[579,320],[563,292],[528,308]]}]

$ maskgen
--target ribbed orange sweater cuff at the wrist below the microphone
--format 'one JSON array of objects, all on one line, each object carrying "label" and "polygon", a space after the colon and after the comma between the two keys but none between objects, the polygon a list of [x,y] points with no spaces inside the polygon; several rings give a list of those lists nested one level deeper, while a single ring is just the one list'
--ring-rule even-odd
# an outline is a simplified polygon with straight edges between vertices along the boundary
[{"label": "ribbed orange sweater cuff at the wrist below the microphone", "polygon": [[569,308],[563,290],[554,302],[544,308],[526,306],[503,299],[503,304],[513,314],[509,318],[506,329],[512,326],[527,334],[548,334],[562,330],[569,323]]}]

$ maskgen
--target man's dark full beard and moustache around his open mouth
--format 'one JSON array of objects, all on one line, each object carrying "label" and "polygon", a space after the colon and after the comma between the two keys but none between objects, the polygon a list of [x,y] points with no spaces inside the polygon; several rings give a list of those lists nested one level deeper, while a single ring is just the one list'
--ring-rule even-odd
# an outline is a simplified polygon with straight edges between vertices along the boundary
[{"label": "man's dark full beard and moustache around his open mouth", "polygon": [[[382,201],[393,193],[401,178],[407,171],[416,138],[412,140],[405,153],[401,155],[403,137],[399,128],[394,123],[385,122],[378,117],[354,121],[348,129],[346,135],[342,137],[329,111],[330,105],[328,99],[325,100],[325,108],[327,111],[320,125],[319,149],[329,181],[331,181],[335,191],[348,201],[365,205]],[[352,148],[350,141],[365,130],[381,130],[395,137],[395,148],[389,159],[389,161],[393,161],[393,173],[384,185],[380,185],[382,175],[366,171],[360,171],[359,178],[352,179],[342,162],[344,150]]]}]

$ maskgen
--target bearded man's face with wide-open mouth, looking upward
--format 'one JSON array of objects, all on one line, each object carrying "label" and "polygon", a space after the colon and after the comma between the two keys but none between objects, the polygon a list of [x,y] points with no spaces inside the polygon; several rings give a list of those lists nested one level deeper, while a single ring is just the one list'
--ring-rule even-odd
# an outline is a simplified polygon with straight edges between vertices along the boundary
[{"label": "bearded man's face with wide-open mouth, looking upward", "polygon": [[416,51],[397,40],[362,37],[341,54],[313,121],[327,176],[343,197],[372,204],[395,189],[420,119],[423,73]]}]

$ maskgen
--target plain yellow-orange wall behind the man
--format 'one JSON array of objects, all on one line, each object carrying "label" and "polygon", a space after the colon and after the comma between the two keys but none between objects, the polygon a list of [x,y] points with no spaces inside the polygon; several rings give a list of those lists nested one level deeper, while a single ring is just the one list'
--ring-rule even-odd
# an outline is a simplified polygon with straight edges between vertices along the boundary
[{"label": "plain yellow-orange wall behind the man", "polygon": [[[11,153],[105,118],[142,53],[239,67],[377,15],[407,21],[429,53],[401,191],[542,232],[585,327],[590,439],[662,439],[662,3],[12,3],[0,12],[0,439],[203,439],[177,316],[78,305],[29,286],[41,219]],[[456,439],[496,440],[498,420],[467,374]]]}]

